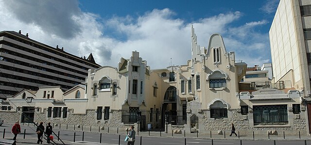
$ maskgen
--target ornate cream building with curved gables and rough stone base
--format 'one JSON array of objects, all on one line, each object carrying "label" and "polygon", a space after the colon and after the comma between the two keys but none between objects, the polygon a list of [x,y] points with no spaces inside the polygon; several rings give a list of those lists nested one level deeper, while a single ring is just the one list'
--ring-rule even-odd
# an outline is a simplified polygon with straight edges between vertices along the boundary
[{"label": "ornate cream building with curved gables and rough stone base", "polygon": [[[242,78],[255,84],[269,79],[245,78],[247,64],[235,61],[221,35],[211,35],[207,47],[200,47],[196,38],[192,28],[191,58],[184,65],[151,70],[135,51],[117,67],[88,70],[84,85],[65,92],[59,86],[23,89],[0,102],[0,117],[110,130],[137,127],[139,120],[141,131],[150,124],[152,130],[221,134],[234,123],[244,134],[307,133],[303,91],[284,92],[269,85],[241,90]],[[262,73],[267,71],[257,74]],[[55,95],[48,98],[51,92]]]}]

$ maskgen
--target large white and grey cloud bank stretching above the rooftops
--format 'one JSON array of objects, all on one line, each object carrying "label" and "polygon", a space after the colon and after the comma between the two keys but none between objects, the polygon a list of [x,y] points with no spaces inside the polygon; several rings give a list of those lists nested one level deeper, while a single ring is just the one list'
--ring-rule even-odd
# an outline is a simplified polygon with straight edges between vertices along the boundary
[{"label": "large white and grey cloud bank stretching above the rooftops", "polygon": [[[129,58],[136,50],[151,69],[162,69],[170,64],[171,58],[174,65],[186,64],[191,58],[193,24],[201,46],[207,47],[209,37],[220,33],[226,50],[235,51],[236,59],[242,59],[249,66],[270,60],[267,55],[270,54],[268,34],[256,31],[256,27],[266,25],[267,21],[232,27],[231,24],[243,16],[238,11],[187,23],[174,18],[176,14],[170,9],[154,9],[138,18],[115,15],[104,19],[97,14],[82,12],[78,6],[78,2],[72,0],[0,0],[0,28],[21,29],[22,33],[28,32],[31,39],[51,46],[59,45],[79,57],[92,53],[98,64],[113,67],[117,67],[121,57]],[[27,14],[23,17],[23,10],[13,10],[16,8],[27,8]],[[55,14],[49,14],[56,10]],[[67,26],[63,26],[65,24]],[[69,27],[73,28],[67,29]]]}]

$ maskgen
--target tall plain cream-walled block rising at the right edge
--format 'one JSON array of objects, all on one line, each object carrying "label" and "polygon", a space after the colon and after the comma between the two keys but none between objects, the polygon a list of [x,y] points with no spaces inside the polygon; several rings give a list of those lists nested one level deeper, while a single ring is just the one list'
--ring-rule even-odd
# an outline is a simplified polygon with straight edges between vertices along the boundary
[{"label": "tall plain cream-walled block rising at the right edge", "polygon": [[[273,82],[291,81],[311,108],[311,1],[280,0],[270,31]],[[308,132],[311,132],[309,112]]]}]

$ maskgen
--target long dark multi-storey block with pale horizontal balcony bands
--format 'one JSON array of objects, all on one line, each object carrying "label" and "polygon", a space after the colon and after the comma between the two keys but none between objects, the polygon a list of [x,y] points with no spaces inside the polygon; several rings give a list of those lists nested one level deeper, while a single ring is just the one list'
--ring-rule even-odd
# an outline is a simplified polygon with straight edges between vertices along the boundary
[{"label": "long dark multi-storey block with pale horizontal balcony bands", "polygon": [[[0,98],[23,88],[61,86],[68,90],[85,82],[88,69],[99,68],[92,54],[79,58],[15,31],[0,32]],[[53,97],[53,94],[51,94]],[[49,96],[48,96],[49,97]]]}]

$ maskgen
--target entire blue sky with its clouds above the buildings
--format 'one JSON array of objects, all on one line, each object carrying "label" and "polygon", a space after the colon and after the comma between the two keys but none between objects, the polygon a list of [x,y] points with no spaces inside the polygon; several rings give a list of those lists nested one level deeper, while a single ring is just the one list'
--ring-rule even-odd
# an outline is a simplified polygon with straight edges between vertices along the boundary
[{"label": "entire blue sky with its clouds above the buildings", "polygon": [[271,62],[269,29],[279,0],[0,0],[0,31],[117,67],[132,51],[154,69],[191,58],[191,25],[207,48],[213,33],[248,67]]}]

